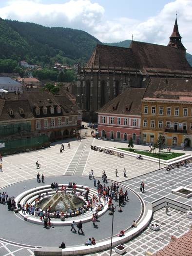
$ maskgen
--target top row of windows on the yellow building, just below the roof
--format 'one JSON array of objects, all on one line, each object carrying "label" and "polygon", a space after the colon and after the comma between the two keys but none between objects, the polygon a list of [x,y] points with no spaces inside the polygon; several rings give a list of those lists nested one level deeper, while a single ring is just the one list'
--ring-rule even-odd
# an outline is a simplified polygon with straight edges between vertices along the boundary
[{"label": "top row of windows on the yellow building, just below the roof", "polygon": [[[163,115],[164,112],[164,108],[163,107],[159,107],[158,109],[158,114],[159,115]],[[172,114],[172,107],[167,107],[166,109],[166,115],[167,116],[171,116]],[[144,114],[148,114],[149,113],[149,108],[148,106],[144,106]],[[152,106],[151,107],[151,114],[155,115],[156,114],[156,107]],[[174,108],[174,116],[179,116],[179,107]],[[188,108],[183,108],[183,116],[187,117],[188,116]],[[192,116],[192,110],[191,110],[191,116]]]}]

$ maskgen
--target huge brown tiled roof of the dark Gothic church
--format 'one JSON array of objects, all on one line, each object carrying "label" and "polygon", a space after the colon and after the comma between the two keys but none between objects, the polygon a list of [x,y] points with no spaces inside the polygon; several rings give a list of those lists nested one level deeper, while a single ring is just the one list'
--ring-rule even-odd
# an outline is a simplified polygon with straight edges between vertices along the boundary
[{"label": "huge brown tiled roof of the dark Gothic church", "polygon": [[98,44],[86,68],[122,67],[150,72],[190,73],[185,51],[170,46],[132,41],[130,48]]}]

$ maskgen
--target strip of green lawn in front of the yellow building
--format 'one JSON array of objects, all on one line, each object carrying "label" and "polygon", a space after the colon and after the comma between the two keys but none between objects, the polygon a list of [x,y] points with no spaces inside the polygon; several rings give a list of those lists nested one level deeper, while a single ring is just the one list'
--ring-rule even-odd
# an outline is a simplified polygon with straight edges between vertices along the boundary
[{"label": "strip of green lawn in front of the yellow building", "polygon": [[[138,155],[145,155],[145,156],[152,157],[152,158],[159,158],[158,153],[153,153],[153,152],[150,153],[150,152],[143,151],[143,150],[136,150],[136,149],[129,149],[129,148],[118,148],[118,149],[134,152]],[[161,156],[160,157],[163,160],[169,160],[169,159],[172,159],[172,158],[180,157],[182,155],[185,155],[185,153],[175,153],[175,152],[167,153],[165,151],[161,151]]]}]

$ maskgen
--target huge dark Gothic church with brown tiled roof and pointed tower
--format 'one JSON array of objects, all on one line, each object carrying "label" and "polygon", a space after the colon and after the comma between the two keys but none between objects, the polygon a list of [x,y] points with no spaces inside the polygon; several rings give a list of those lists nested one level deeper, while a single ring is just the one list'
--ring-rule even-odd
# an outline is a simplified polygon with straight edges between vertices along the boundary
[{"label": "huge dark Gothic church with brown tiled roof and pointed tower", "polygon": [[150,78],[192,78],[177,18],[167,46],[132,40],[129,48],[97,44],[86,65],[78,66],[77,104],[82,117],[96,121],[96,110],[127,88],[145,88]]}]

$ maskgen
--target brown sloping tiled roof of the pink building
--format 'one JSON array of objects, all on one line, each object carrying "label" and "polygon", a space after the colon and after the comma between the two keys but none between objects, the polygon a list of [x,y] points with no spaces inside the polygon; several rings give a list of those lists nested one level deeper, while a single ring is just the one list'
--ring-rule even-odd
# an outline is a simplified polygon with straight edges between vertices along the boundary
[{"label": "brown sloping tiled roof of the pink building", "polygon": [[122,94],[115,97],[106,103],[102,108],[97,110],[97,113],[140,115],[141,99],[144,92],[144,88],[128,88]]}]

